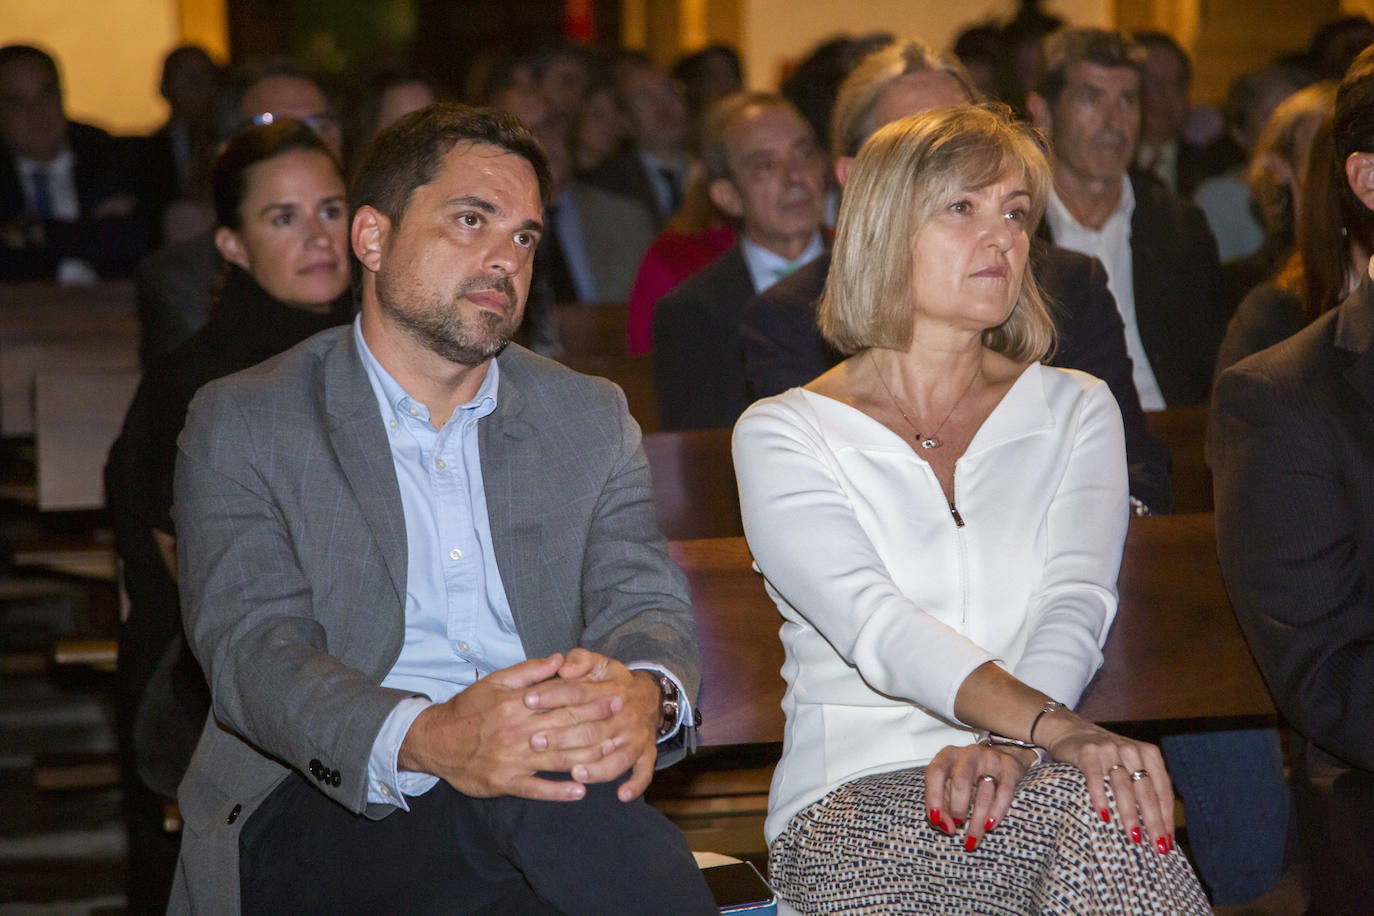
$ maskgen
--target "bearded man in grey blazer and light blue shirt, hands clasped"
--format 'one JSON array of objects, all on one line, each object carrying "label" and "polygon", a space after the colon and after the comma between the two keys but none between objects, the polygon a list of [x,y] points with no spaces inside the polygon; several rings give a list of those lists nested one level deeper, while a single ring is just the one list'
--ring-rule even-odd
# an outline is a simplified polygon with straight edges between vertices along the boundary
[{"label": "bearded man in grey blazer and light blue shirt, hands clasped", "polygon": [[507,346],[547,187],[507,114],[403,118],[354,180],[359,321],[192,402],[172,912],[716,912],[642,799],[699,662],[639,430]]}]

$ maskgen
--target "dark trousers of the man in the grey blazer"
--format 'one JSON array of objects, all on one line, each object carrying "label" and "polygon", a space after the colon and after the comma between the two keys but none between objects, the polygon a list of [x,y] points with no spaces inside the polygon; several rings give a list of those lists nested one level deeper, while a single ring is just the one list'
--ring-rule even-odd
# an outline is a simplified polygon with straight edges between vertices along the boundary
[{"label": "dark trousers of the man in the grey blazer", "polygon": [[682,832],[616,786],[536,802],[440,781],[374,821],[293,775],[239,836],[243,913],[719,913]]}]

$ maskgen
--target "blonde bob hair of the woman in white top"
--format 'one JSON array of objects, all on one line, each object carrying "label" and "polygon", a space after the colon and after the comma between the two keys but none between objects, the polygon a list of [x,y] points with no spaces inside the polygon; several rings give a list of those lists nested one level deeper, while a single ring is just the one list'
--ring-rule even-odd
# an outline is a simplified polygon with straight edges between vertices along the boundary
[{"label": "blonde bob hair of the woman in white top", "polygon": [[[1050,165],[1039,133],[1004,104],[932,108],[879,129],[859,151],[845,183],[820,332],[841,353],[911,346],[911,271],[926,221],[959,199],[1011,174],[1030,195],[1024,229],[1033,235],[1050,195]],[[982,332],[991,350],[1043,360],[1054,321],[1029,264],[1007,320]]]}]

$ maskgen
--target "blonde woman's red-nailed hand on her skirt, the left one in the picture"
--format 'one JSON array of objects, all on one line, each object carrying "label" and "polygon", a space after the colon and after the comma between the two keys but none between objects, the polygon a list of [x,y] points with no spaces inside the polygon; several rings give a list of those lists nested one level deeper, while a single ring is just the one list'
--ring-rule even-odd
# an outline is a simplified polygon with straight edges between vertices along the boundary
[{"label": "blonde woman's red-nailed hand on her skirt, the left one in the picture", "polygon": [[[1020,759],[1018,753],[1028,759]],[[971,853],[1011,808],[1017,783],[1032,762],[1028,751],[1018,753],[985,744],[943,748],[926,766],[930,823],[954,834],[967,820],[963,847]]]}]

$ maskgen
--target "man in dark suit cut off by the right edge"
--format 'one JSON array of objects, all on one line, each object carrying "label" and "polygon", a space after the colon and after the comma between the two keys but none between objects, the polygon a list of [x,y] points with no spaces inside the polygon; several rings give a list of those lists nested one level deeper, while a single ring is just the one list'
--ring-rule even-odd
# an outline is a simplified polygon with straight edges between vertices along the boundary
[{"label": "man in dark suit cut off by the right edge", "polygon": [[[1345,220],[1374,221],[1374,48],[1336,98]],[[1309,913],[1374,912],[1374,279],[1217,379],[1216,537],[1290,746]]]}]

